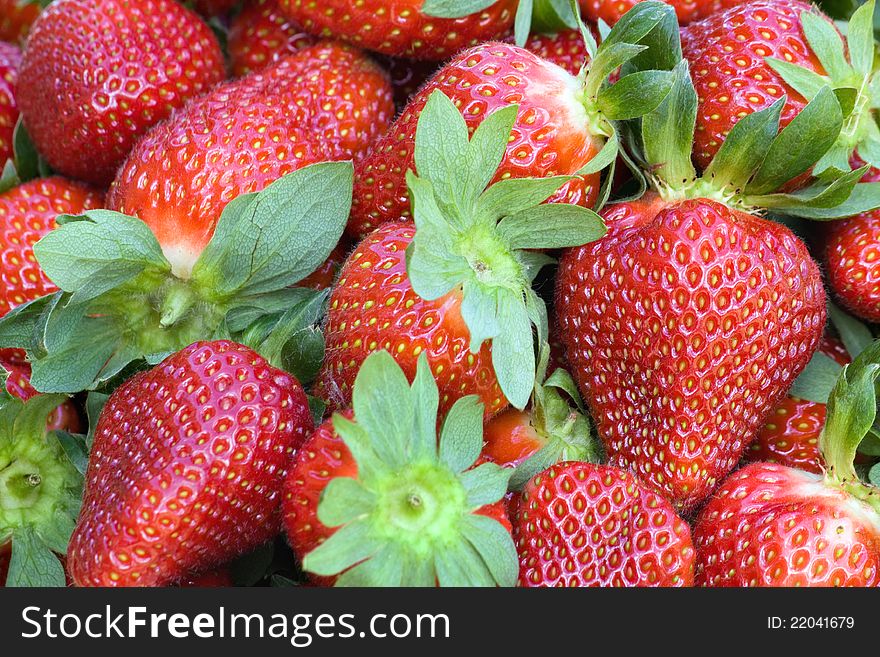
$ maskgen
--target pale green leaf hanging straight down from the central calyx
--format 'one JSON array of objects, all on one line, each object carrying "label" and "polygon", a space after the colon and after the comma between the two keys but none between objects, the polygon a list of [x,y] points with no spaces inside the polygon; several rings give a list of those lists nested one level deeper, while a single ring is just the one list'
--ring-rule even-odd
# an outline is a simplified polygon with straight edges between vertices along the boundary
[{"label": "pale green leaf hanging straight down from the central calyx", "polygon": [[499,295],[498,317],[504,331],[492,339],[492,365],[501,391],[515,408],[523,409],[535,379],[532,325],[523,300],[513,293]]}]

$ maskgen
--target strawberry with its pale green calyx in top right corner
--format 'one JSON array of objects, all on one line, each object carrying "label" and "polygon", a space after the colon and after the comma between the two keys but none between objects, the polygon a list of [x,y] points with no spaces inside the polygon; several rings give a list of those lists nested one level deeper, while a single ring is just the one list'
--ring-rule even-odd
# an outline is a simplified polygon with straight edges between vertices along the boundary
[{"label": "strawberry with its pale green calyx in top right corner", "polygon": [[[799,0],[754,0],[685,27],[682,48],[700,99],[697,164],[708,166],[741,117],[785,98],[780,120],[784,127],[826,85],[842,94],[845,122],[813,173],[829,168],[849,171],[854,153],[880,164],[878,100],[869,91],[873,8],[872,1],[853,15],[847,44],[828,17]],[[790,187],[803,186],[808,179],[798,178]]]}]

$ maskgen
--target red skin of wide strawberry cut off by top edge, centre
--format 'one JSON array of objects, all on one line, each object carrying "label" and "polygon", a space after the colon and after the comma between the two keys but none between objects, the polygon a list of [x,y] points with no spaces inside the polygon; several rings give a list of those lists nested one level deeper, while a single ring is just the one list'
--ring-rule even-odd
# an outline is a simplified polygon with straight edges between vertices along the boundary
[{"label": "red skin of wide strawberry cut off by top edge, centre", "polygon": [[504,36],[517,0],[497,0],[462,18],[422,13],[423,0],[280,0],[281,11],[308,32],[391,55],[439,61],[459,50]]}]

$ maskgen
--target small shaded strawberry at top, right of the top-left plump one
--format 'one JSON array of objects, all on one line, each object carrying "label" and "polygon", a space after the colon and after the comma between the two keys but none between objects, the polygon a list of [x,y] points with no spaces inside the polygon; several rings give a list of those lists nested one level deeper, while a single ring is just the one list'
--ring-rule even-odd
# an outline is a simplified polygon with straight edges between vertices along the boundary
[{"label": "small shaded strawberry at top, right of the top-left plump one", "polygon": [[229,27],[232,74],[257,71],[316,41],[281,13],[278,0],[251,0]]}]

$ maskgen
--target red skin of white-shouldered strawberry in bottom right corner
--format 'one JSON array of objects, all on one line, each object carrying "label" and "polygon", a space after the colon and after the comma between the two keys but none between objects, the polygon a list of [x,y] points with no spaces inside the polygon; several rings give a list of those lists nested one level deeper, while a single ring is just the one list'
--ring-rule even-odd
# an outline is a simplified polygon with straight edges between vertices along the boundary
[{"label": "red skin of white-shouldered strawberry in bottom right corner", "polygon": [[773,463],[732,474],[694,526],[702,586],[878,586],[880,516]]}]

